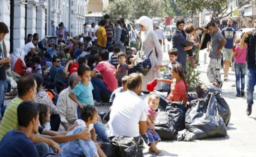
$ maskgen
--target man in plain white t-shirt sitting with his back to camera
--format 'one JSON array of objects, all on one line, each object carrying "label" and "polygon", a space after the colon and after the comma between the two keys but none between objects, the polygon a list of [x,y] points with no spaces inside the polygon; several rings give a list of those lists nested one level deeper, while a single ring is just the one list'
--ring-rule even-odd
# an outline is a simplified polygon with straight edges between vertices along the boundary
[{"label": "man in plain white t-shirt sitting with his back to camera", "polygon": [[147,104],[141,94],[142,75],[132,73],[127,79],[127,91],[116,95],[111,107],[110,139],[116,135],[139,137],[147,130]]}]

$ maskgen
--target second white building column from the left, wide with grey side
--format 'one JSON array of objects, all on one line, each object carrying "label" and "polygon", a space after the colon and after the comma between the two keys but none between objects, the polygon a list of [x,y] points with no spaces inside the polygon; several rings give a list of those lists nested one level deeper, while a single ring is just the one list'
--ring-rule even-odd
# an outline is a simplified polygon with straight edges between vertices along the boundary
[{"label": "second white building column from the left, wide with grey side", "polygon": [[[25,2],[14,2],[14,26],[13,26],[13,50],[20,48],[24,50],[25,46]],[[7,45],[6,45],[7,47]]]}]

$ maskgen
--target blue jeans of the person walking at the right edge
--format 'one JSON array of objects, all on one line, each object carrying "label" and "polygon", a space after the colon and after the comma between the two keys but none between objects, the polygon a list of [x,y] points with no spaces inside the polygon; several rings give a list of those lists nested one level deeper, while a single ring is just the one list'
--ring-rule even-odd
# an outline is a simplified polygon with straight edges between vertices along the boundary
[{"label": "blue jeans of the person walking at the right edge", "polygon": [[253,91],[256,84],[256,69],[247,69],[247,105],[251,106],[253,104]]}]

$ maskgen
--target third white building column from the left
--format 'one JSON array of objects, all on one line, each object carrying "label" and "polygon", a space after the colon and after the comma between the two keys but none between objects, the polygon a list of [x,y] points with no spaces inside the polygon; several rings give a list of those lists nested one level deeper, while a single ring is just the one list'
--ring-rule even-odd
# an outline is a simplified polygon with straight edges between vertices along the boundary
[{"label": "third white building column from the left", "polygon": [[[27,34],[36,33],[36,6],[39,6],[38,0],[27,0]],[[41,26],[39,26],[41,27]]]}]

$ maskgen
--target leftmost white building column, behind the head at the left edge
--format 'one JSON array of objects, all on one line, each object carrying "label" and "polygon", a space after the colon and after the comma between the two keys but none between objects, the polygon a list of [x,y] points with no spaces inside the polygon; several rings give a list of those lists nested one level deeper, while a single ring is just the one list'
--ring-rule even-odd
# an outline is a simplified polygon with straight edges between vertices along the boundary
[{"label": "leftmost white building column, behind the head at the left edge", "polygon": [[[9,19],[10,19],[10,0],[0,0],[0,21],[4,22],[10,31]],[[10,33],[6,34],[5,36],[5,44],[6,44],[7,52],[9,52],[10,51]]]}]

